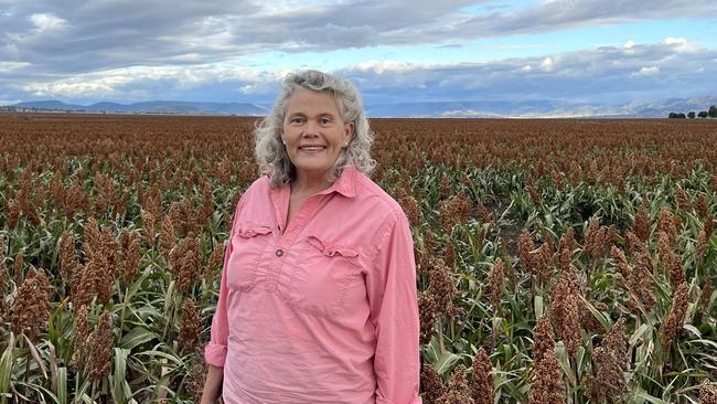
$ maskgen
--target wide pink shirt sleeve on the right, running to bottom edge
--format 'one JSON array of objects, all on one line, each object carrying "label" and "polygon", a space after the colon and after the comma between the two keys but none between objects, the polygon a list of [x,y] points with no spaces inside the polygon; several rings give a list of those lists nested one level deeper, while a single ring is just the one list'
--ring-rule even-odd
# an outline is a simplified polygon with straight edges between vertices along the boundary
[{"label": "wide pink shirt sleeve on the right, running to bottom edge", "polygon": [[366,278],[376,333],[376,403],[420,404],[416,264],[405,214],[394,213],[377,240],[375,265]]}]

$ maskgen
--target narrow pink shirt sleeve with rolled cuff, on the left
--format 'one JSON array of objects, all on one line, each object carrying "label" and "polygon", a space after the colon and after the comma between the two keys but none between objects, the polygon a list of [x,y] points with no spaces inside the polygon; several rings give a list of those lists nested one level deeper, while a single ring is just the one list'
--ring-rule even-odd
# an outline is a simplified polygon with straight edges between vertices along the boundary
[{"label": "narrow pink shirt sleeve with rolled cuff, on the left", "polygon": [[226,312],[226,297],[229,290],[226,284],[226,273],[227,263],[229,262],[229,256],[232,255],[232,237],[234,236],[240,206],[242,200],[237,203],[236,210],[234,212],[234,221],[232,222],[232,230],[229,231],[229,240],[224,252],[224,266],[222,268],[222,280],[220,283],[220,299],[216,304],[216,311],[214,311],[214,317],[212,318],[212,332],[210,342],[204,348],[204,360],[206,363],[218,368],[224,368],[224,361],[226,360],[227,339],[229,337],[228,316]]}]

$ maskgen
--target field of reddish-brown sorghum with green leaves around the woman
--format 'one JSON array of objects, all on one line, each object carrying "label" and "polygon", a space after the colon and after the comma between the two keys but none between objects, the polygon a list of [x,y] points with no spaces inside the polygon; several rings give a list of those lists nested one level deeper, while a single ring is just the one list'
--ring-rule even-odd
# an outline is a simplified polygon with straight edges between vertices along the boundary
[{"label": "field of reddish-brown sorghum with green leaves around the woman", "polygon": [[[0,402],[196,400],[254,121],[0,115]],[[425,403],[717,403],[717,121],[372,127]]]}]

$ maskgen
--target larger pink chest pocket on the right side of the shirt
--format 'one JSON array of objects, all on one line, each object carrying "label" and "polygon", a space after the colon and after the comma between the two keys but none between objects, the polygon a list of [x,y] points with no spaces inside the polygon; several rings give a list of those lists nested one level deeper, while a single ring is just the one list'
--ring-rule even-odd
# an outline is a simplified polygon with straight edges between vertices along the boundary
[{"label": "larger pink chest pocket on the right side of the shirt", "polygon": [[346,291],[363,284],[360,252],[309,236],[291,248],[283,296],[300,311],[334,318],[345,306]]}]

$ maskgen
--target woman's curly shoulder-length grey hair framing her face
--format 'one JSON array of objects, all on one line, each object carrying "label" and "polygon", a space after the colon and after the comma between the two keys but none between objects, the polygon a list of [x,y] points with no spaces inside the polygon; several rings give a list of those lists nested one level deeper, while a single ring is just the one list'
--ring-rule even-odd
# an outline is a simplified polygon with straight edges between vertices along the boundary
[{"label": "woman's curly shoulder-length grey hair framing her face", "polygon": [[342,77],[311,70],[289,74],[281,82],[277,102],[256,126],[254,155],[259,164],[259,173],[269,176],[271,187],[296,179],[296,168],[281,142],[281,131],[287,103],[297,88],[328,92],[336,99],[343,121],[354,124],[353,136],[333,164],[329,181],[335,181],[346,166],[354,166],[358,171],[371,176],[376,167],[376,161],[371,158],[374,134],[368,128],[358,91]]}]

